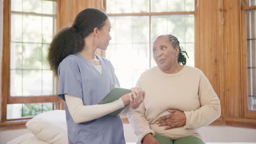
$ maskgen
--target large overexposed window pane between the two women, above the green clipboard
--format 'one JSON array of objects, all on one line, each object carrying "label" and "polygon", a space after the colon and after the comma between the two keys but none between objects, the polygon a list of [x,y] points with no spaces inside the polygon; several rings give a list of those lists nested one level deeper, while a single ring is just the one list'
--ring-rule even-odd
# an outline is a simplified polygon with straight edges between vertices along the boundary
[{"label": "large overexposed window pane between the two women, above the green clipboard", "polygon": [[106,57],[115,67],[120,86],[131,88],[136,85],[139,75],[149,68],[149,44],[111,44]]}]

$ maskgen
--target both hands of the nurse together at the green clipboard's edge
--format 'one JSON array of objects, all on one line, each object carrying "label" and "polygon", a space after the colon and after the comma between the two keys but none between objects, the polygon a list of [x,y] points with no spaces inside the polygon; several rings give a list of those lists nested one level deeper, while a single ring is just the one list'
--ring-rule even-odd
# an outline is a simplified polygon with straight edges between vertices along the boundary
[{"label": "both hands of the nurse together at the green clipboard's edge", "polygon": [[143,102],[145,98],[145,91],[143,91],[142,88],[139,87],[133,87],[131,88],[131,92],[124,94],[121,99],[124,102],[124,105],[127,105],[130,103],[131,109],[137,109],[139,105]]}]

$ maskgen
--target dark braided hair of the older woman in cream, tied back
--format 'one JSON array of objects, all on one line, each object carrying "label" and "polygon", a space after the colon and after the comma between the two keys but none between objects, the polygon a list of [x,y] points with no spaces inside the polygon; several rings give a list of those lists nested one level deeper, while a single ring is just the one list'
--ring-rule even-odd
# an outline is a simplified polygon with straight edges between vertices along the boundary
[{"label": "dark braided hair of the older woman in cream, tied back", "polygon": [[[179,41],[176,37],[174,37],[174,35],[171,34],[167,34],[167,35],[160,35],[158,38],[160,37],[168,37],[170,43],[172,44],[173,48],[175,47],[179,47],[179,56],[178,56],[178,64],[185,65],[187,63],[187,59],[186,57],[183,55],[183,53],[185,53],[188,57],[188,53],[185,51],[181,51],[181,47],[179,46]],[[156,38],[156,39],[158,39]],[[189,57],[188,57],[189,58]]]}]

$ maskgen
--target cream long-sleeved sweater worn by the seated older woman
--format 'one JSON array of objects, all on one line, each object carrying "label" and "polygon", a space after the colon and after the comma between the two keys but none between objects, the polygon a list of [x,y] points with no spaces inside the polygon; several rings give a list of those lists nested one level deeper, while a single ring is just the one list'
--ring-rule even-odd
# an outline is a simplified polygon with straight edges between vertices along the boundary
[{"label": "cream long-sleeved sweater worn by the seated older woman", "polygon": [[[137,82],[146,96],[138,109],[128,115],[138,140],[145,135],[162,135],[170,139],[194,135],[202,139],[199,127],[220,116],[220,101],[201,70],[185,65],[176,74],[166,74],[159,67],[145,71]],[[184,127],[164,130],[157,120],[170,114],[167,109],[184,111]]]}]

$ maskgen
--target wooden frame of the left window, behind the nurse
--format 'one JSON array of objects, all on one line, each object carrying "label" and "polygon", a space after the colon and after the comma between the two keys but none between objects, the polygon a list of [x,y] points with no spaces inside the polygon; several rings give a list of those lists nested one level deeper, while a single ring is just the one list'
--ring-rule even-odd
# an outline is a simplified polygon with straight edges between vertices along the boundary
[{"label": "wooden frame of the left window, behind the nurse", "polygon": [[[57,2],[57,15],[59,14],[59,0]],[[7,119],[7,104],[20,103],[54,103],[53,109],[63,109],[63,102],[57,95],[37,97],[10,97],[10,39],[11,39],[11,1],[3,0],[3,57],[2,57],[2,86],[1,86],[1,130],[26,128],[25,124],[30,118]],[[58,16],[57,16],[58,21]],[[57,22],[58,23],[58,22]],[[59,26],[57,24],[57,26]],[[58,27],[57,27],[58,29]],[[56,85],[56,83],[54,83]]]}]

